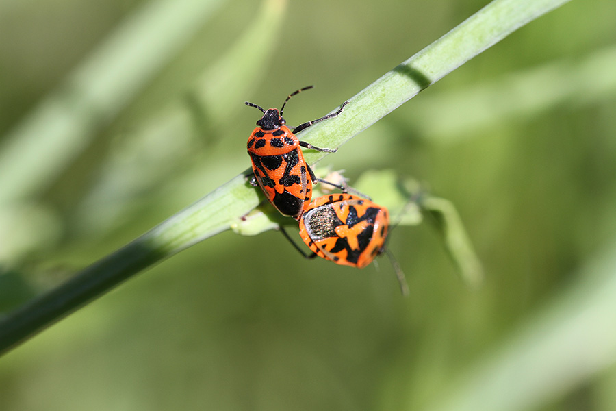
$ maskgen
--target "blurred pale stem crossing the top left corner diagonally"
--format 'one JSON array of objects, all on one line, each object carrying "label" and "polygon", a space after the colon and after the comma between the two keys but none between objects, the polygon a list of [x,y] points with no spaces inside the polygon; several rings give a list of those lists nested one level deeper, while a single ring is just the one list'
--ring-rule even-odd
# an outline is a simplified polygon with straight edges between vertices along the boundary
[{"label": "blurred pale stem crossing the top left corner diagonally", "polygon": [[133,99],[221,0],[153,0],[45,97],[0,147],[0,206],[36,195]]}]

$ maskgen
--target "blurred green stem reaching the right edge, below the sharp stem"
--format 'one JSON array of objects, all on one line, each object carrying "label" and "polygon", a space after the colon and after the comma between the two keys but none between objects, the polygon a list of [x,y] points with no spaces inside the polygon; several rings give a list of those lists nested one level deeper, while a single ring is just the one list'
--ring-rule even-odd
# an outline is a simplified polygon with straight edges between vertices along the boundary
[{"label": "blurred green stem reaching the right edge, below the sharp stem", "polygon": [[[432,144],[454,144],[488,127],[535,119],[560,105],[580,108],[611,99],[616,94],[615,66],[615,45],[584,58],[566,56],[481,84],[422,96],[421,105],[396,116],[396,121],[413,127],[418,137]],[[506,102],[502,96],[507,96]],[[443,112],[449,113],[447,121],[442,121]]]}]

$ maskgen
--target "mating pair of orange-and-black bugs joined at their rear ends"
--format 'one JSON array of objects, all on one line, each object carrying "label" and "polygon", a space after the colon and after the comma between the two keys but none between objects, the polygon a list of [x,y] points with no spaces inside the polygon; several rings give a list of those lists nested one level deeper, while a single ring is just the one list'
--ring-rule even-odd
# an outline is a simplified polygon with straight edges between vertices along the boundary
[{"label": "mating pair of orange-and-black bugs joined at their rear ends", "polygon": [[[317,178],[305,162],[300,147],[333,153],[337,149],[322,149],[300,141],[295,134],[313,124],[338,116],[348,104],[346,101],[337,112],[320,119],[308,121],[291,130],[283,118],[287,101],[299,92],[292,92],[285,99],[280,111],[277,108],[258,108],[263,116],[257,121],[248,138],[248,154],[253,162],[253,186],[260,186],[268,201],[284,216],[299,221],[300,237],[313,251],[306,255],[293,240],[281,231],[306,257],[319,256],[336,264],[363,268],[385,251],[385,239],[389,230],[389,212],[372,200],[352,195],[346,186],[339,186]],[[342,193],[324,195],[311,201],[312,186],[323,182],[342,190]],[[402,273],[398,280],[402,292],[406,283]]]}]

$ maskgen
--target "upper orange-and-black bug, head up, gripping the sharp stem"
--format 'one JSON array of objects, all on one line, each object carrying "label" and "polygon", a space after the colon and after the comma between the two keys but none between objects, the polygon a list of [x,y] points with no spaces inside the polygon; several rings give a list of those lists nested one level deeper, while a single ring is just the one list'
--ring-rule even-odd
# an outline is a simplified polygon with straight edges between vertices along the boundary
[{"label": "upper orange-and-black bug, head up, gripping the sharp stem", "polygon": [[287,127],[283,118],[283,110],[287,101],[294,95],[312,88],[308,86],[292,92],[283,103],[280,112],[277,108],[264,110],[259,105],[248,103],[251,107],[258,108],[263,116],[257,121],[255,128],[248,138],[248,154],[253,162],[255,174],[251,184],[257,184],[264,191],[267,199],[281,214],[292,216],[299,220],[304,210],[309,206],[312,197],[312,184],[320,181],[317,179],[306,164],[300,147],[327,151],[334,153],[337,149],[321,149],[307,142],[298,140],[296,133],[301,132],[313,124],[326,119],[331,119],[342,113],[345,102],[337,112],[328,114],[313,121],[308,121],[295,127],[293,130]]}]

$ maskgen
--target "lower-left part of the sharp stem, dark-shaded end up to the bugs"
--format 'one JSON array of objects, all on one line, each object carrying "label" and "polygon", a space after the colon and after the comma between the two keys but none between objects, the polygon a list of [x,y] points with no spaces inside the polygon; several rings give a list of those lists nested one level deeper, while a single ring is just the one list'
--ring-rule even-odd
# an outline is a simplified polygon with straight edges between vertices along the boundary
[{"label": "lower-left part of the sharp stem, dark-shaded end up to the bugs", "polygon": [[238,175],[125,247],[1,319],[0,355],[146,267],[229,229],[235,216],[246,214],[261,201],[257,191],[247,185],[244,175]]}]

